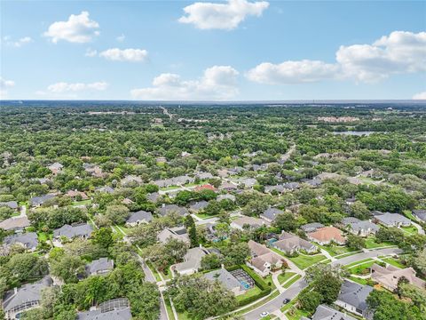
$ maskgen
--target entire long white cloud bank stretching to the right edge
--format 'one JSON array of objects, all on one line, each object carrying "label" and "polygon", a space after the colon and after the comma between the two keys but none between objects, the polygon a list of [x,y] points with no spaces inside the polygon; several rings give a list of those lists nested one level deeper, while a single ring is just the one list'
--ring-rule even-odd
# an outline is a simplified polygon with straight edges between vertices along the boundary
[{"label": "entire long white cloud bank stretching to the right edge", "polygon": [[426,71],[426,32],[394,31],[373,44],[341,46],[335,62],[319,60],[264,62],[248,79],[261,84],[295,84],[325,79],[375,82],[392,74]]}]

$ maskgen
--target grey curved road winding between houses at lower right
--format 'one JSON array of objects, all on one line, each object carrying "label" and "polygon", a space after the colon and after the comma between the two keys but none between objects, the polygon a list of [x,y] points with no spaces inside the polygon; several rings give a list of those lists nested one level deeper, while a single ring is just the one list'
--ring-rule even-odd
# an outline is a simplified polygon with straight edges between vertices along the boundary
[{"label": "grey curved road winding between houses at lower right", "polygon": [[[378,250],[369,251],[369,252],[361,252],[346,258],[342,258],[340,260],[335,260],[331,264],[347,265],[352,262],[364,260],[367,258],[375,258],[381,255],[398,254],[400,252],[401,250],[398,248],[378,249]],[[296,281],[296,283],[292,284],[285,292],[280,293],[280,295],[277,298],[272,299],[271,301],[266,302],[263,306],[256,308],[248,312],[247,314],[243,315],[244,319],[258,320],[260,319],[260,314],[262,312],[269,312],[270,314],[272,314],[272,312],[282,307],[282,301],[284,299],[290,299],[290,300],[295,299],[297,294],[299,294],[299,292],[301,292],[304,289],[304,287],[306,287],[306,285],[307,284],[304,281],[304,279],[301,278],[300,280]]]}]

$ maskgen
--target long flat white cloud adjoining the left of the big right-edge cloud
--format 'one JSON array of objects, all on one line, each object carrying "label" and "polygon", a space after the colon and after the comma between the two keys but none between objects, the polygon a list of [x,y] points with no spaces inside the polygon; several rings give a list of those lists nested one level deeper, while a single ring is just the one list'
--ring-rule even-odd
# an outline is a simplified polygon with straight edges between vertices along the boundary
[{"label": "long flat white cloud adjoining the left of the big right-edge cloud", "polygon": [[315,60],[264,62],[248,71],[249,80],[260,84],[310,83],[336,76],[339,67]]}]

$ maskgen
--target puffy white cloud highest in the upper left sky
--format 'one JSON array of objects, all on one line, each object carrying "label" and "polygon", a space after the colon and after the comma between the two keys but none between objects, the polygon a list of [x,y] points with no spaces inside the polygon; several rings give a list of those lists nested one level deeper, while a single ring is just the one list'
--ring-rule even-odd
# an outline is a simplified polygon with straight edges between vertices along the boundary
[{"label": "puffy white cloud highest in the upper left sky", "polygon": [[43,36],[51,37],[54,44],[59,40],[83,44],[91,42],[93,36],[99,36],[98,28],[99,23],[89,19],[89,12],[81,12],[71,14],[67,21],[53,22]]}]

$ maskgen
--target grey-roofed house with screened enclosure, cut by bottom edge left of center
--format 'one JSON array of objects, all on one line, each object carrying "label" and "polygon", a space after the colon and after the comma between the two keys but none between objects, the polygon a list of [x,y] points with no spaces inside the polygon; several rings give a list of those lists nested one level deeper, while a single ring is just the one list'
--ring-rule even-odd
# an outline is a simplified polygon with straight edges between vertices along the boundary
[{"label": "grey-roofed house with screened enclosure, cut by bottom edge left of center", "polygon": [[77,313],[76,320],[130,320],[130,304],[126,298],[107,300],[90,311]]}]

